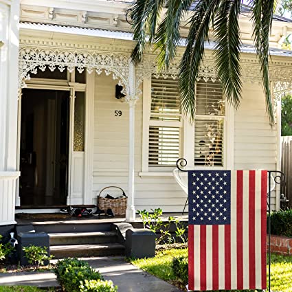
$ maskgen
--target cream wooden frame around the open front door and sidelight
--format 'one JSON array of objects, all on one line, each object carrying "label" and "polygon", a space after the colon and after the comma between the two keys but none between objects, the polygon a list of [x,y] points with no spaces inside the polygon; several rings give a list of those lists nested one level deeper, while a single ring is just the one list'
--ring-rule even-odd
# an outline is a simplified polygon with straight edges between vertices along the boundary
[{"label": "cream wooden frame around the open front door and sidelight", "polygon": [[[71,80],[75,81],[75,72],[71,73]],[[69,91],[69,155],[68,155],[68,186],[67,205],[72,203],[93,203],[93,128],[94,128],[94,88],[95,74],[86,73],[86,84],[69,82],[67,80],[31,78],[26,80],[27,89],[49,89]],[[74,96],[75,91],[85,92],[85,149],[83,155],[84,171],[82,174],[83,188],[82,197],[77,201],[71,198],[72,155],[74,155]],[[21,96],[19,91],[18,124],[17,124],[17,170],[20,168],[21,150]],[[77,153],[80,155],[80,153]],[[16,183],[16,206],[20,206],[19,179]]]}]

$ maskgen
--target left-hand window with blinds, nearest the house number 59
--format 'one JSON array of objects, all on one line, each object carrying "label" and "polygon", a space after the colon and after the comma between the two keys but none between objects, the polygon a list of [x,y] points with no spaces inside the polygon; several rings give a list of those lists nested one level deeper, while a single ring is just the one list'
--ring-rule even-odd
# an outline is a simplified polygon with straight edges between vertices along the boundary
[{"label": "left-hand window with blinds, nearest the house number 59", "polygon": [[180,157],[181,114],[177,80],[151,78],[148,166],[175,166]]}]

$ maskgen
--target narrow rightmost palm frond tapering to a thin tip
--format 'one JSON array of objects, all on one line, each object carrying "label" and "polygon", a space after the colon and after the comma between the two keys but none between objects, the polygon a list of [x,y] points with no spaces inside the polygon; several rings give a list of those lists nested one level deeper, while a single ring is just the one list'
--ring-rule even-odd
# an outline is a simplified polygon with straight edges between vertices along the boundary
[{"label": "narrow rightmost palm frond tapering to a thin tip", "polygon": [[271,124],[275,122],[275,119],[269,84],[269,33],[273,21],[274,4],[274,0],[254,0],[253,2],[254,44],[260,59],[262,85],[265,91],[267,113]]}]

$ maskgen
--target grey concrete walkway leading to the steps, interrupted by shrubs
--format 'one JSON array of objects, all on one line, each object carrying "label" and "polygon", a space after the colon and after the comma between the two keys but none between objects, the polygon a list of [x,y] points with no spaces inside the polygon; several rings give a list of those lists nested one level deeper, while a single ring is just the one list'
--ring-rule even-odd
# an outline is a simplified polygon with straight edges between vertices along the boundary
[{"label": "grey concrete walkway leading to the steps, interrupted by shrubs", "polygon": [[[82,258],[98,269],[105,280],[112,280],[119,292],[181,292],[167,282],[160,280],[124,261],[122,257]],[[56,260],[52,260],[56,262]],[[33,285],[38,287],[57,286],[56,276],[51,272],[0,273],[0,285]]]}]

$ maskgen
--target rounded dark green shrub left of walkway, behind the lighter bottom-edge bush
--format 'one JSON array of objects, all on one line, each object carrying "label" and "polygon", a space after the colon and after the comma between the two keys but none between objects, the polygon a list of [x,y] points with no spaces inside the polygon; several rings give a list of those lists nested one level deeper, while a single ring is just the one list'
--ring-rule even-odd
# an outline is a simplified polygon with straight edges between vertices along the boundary
[{"label": "rounded dark green shrub left of walkway, behind the lighter bottom-edge bush", "polygon": [[59,284],[67,292],[79,292],[84,280],[103,280],[100,273],[94,271],[87,262],[77,258],[59,260],[54,273]]}]

